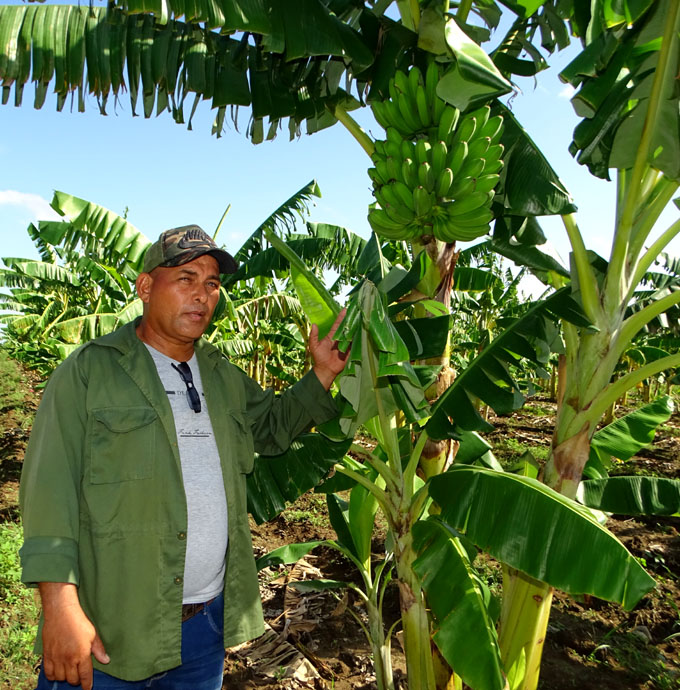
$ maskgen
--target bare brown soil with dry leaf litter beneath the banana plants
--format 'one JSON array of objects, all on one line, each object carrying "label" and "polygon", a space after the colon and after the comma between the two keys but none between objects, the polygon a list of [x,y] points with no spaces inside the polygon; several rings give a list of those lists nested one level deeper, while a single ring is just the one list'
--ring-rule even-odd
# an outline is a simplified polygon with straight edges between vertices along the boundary
[{"label": "bare brown soil with dry leaf litter beneath the banana plants", "polygon": [[[0,409],[0,520],[17,519],[18,480],[28,438],[27,414],[35,408],[35,381],[27,386],[24,409]],[[489,436],[499,459],[512,461],[522,447],[547,448],[553,406],[492,417]],[[508,440],[511,440],[509,443]],[[665,425],[652,447],[642,451],[622,474],[656,474],[680,478],[680,415]],[[275,520],[252,524],[256,555],[284,544],[334,536],[325,518],[323,499],[302,497]],[[545,643],[541,690],[680,689],[680,519],[612,516],[608,527],[657,580],[657,588],[633,611],[595,598],[575,600],[557,593]],[[380,535],[375,553],[382,553]],[[498,566],[486,562],[490,583]],[[597,567],[594,563],[593,567]],[[274,688],[350,688],[372,690],[370,649],[357,619],[365,614],[356,596],[330,592],[299,594],[292,580],[317,577],[356,581],[350,563],[321,547],[296,567],[267,568],[261,573],[265,617],[271,631],[243,648],[229,650],[224,685],[228,690]],[[395,589],[388,588],[386,616],[398,617]],[[0,621],[0,626],[2,625]],[[398,626],[397,626],[398,628]],[[0,631],[1,632],[1,631]],[[393,636],[395,677],[406,687],[404,660]],[[18,689],[17,689],[18,690]]]}]

